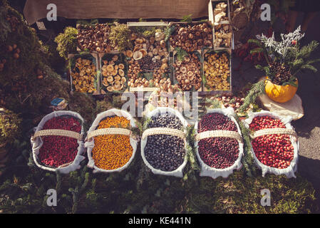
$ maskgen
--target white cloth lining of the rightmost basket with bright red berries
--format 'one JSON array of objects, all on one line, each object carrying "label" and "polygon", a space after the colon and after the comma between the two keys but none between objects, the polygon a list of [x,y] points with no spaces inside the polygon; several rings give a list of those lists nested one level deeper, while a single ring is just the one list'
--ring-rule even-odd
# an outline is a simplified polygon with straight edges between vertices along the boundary
[{"label": "white cloth lining of the rightmost basket with bright red berries", "polygon": [[[272,112],[265,111],[265,110],[262,110],[259,113],[249,113],[249,118],[244,120],[244,124],[246,125],[247,128],[249,128],[249,124],[252,122],[253,118],[255,118],[256,116],[263,116],[263,115],[268,115],[272,118],[279,119],[282,121],[282,123],[284,123],[286,128],[294,130],[294,128],[290,124],[290,122],[292,120],[291,116],[284,117],[282,115],[277,115],[276,113],[272,113]],[[268,172],[273,173],[275,175],[286,175],[288,178],[296,177],[294,175],[294,172],[296,172],[296,167],[298,165],[299,142],[296,142],[295,138],[293,136],[290,135],[289,137],[290,137],[291,144],[294,147],[294,159],[291,160],[290,165],[285,169],[278,169],[275,167],[269,167],[267,165],[264,165],[262,162],[260,162],[257,159],[256,155],[254,154],[254,150],[252,148],[252,145],[251,145],[252,156],[254,157],[254,161],[256,162],[257,167],[259,167],[262,170],[262,177],[264,177],[264,175],[266,175]]]}]

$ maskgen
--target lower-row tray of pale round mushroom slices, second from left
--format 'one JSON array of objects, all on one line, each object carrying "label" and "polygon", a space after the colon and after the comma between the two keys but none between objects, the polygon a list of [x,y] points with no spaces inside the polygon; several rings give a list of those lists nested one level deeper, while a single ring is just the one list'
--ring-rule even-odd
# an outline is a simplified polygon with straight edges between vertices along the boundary
[{"label": "lower-row tray of pale round mushroom slices, second from left", "polygon": [[123,53],[106,53],[100,58],[100,89],[123,93],[128,87],[128,64]]}]

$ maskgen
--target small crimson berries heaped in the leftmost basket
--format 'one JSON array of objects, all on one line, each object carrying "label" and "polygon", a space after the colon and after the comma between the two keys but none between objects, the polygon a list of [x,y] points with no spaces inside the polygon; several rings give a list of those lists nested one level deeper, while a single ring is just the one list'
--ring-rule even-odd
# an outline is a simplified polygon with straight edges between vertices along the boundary
[{"label": "small crimson berries heaped in the leftmost basket", "polygon": [[[62,129],[72,130],[76,133],[81,132],[81,123],[73,117],[57,117],[48,120],[42,130],[47,129]],[[72,162],[78,152],[78,142],[75,138],[65,136],[42,136],[43,145],[38,154],[39,160],[51,167]]]}]

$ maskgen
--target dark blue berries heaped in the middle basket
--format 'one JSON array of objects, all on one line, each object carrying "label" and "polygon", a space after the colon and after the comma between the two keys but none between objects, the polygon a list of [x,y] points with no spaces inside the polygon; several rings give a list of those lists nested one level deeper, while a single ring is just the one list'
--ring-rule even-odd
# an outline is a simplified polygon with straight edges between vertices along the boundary
[{"label": "dark blue berries heaped in the middle basket", "polygon": [[[182,123],[175,115],[165,113],[158,117],[153,116],[148,128],[182,130]],[[145,158],[157,170],[176,170],[185,160],[185,142],[177,136],[150,135],[145,145]]]}]

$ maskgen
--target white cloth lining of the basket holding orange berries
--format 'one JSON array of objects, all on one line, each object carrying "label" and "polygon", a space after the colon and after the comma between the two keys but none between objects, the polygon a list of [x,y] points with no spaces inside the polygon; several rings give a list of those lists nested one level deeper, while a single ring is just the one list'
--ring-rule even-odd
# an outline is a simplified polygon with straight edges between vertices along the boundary
[{"label": "white cloth lining of the basket holding orange berries", "polygon": [[[88,130],[88,134],[91,133],[93,130],[96,130],[96,128],[98,128],[99,123],[101,122],[101,120],[103,120],[104,118],[107,118],[108,116],[111,115],[117,115],[117,116],[122,116],[124,118],[126,118],[127,120],[130,120],[130,125],[135,128],[135,120],[133,119],[132,115],[130,115],[130,113],[124,111],[124,110],[118,110],[118,109],[110,109],[107,110],[103,113],[99,113],[96,117],[96,119],[93,121],[93,124],[91,125],[91,128]],[[130,160],[123,165],[122,167],[119,167],[118,169],[115,170],[103,170],[100,169],[99,167],[96,167],[95,165],[95,161],[92,158],[91,155],[91,151],[93,150],[93,147],[95,146],[95,142],[94,142],[94,138],[92,138],[92,140],[90,142],[85,142],[84,146],[87,148],[87,154],[88,154],[88,167],[93,168],[93,172],[121,172],[122,170],[125,170],[130,163],[133,161],[133,158],[135,157],[135,151],[137,150],[137,145],[138,145],[138,141],[134,140],[131,136],[130,136],[130,145],[133,147],[133,154],[130,157]]]}]

